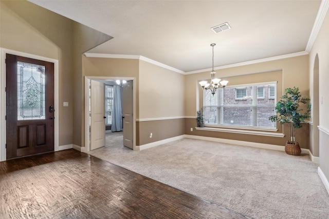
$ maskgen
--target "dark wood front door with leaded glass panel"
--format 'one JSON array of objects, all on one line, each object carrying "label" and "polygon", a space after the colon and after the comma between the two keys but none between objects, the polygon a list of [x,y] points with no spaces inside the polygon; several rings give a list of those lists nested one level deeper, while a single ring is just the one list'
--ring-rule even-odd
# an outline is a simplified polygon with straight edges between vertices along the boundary
[{"label": "dark wood front door with leaded glass panel", "polygon": [[7,159],[54,150],[53,69],[6,54]]}]

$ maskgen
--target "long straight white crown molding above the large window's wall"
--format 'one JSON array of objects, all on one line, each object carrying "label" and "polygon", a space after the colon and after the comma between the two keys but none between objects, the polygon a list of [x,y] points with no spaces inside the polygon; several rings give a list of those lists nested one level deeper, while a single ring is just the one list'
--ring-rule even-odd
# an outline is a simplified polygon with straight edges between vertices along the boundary
[{"label": "long straight white crown molding above the large window's wall", "polygon": [[[231,64],[231,65],[214,67],[214,70],[233,68],[233,67],[257,64],[257,63],[264,63],[264,62],[275,61],[275,60],[283,59],[283,58],[291,58],[291,57],[301,56],[301,55],[308,55],[308,52],[306,52],[306,51],[295,52],[295,53],[290,53],[290,54],[286,54],[286,55],[278,55],[278,56],[273,56],[273,57],[269,57],[269,58],[261,58],[261,59],[256,59],[256,60],[253,60],[253,61],[247,61],[247,62],[242,62],[242,63],[236,63],[236,64]],[[200,69],[200,70],[196,70],[196,71],[189,71],[189,72],[186,72],[185,74],[196,74],[196,73],[206,72],[206,71],[211,71],[211,70],[212,70],[211,68]]]}]

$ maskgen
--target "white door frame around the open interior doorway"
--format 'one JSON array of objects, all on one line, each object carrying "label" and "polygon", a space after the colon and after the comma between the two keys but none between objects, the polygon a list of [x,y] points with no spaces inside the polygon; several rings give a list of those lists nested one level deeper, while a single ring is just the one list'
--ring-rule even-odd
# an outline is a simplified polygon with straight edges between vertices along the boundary
[{"label": "white door frame around the open interior doorway", "polygon": [[89,83],[90,80],[125,80],[125,81],[133,81],[133,150],[137,150],[136,148],[136,78],[135,77],[105,77],[105,76],[85,76],[84,82],[85,82],[85,108],[84,108],[84,115],[85,115],[85,151],[90,151],[90,137],[89,137]]}]

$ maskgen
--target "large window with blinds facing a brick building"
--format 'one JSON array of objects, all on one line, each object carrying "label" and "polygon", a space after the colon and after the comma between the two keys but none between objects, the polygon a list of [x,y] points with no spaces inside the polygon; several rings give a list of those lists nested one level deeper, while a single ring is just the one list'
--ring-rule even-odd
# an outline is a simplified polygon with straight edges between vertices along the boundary
[{"label": "large window with blinds facing a brick building", "polygon": [[276,93],[270,93],[271,89],[276,90],[276,82],[227,86],[215,95],[204,90],[205,125],[276,128],[268,120],[276,114],[276,98],[270,98]]}]

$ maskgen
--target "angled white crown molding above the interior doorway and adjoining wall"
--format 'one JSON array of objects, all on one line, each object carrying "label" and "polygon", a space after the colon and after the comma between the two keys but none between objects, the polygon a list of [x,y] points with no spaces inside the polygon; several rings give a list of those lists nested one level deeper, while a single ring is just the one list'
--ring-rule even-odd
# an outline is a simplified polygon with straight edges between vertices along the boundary
[{"label": "angled white crown molding above the interior doorway and adjoining wall", "polygon": [[147,62],[147,63],[151,63],[153,65],[180,73],[180,74],[185,74],[184,71],[181,71],[179,69],[173,68],[171,66],[159,63],[157,61],[154,61],[151,58],[147,58],[141,55],[119,55],[119,54],[102,54],[102,53],[87,53],[85,52],[84,55],[86,57],[93,57],[93,58],[127,58],[127,59],[139,59],[141,61]]}]

